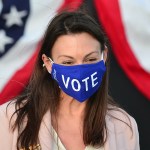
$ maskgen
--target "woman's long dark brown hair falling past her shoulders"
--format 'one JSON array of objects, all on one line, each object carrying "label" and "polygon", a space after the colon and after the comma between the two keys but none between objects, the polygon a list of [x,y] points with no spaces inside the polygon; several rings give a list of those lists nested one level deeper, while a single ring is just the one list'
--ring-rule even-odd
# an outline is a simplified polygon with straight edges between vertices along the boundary
[{"label": "woman's long dark brown hair falling past her shoulders", "polygon": [[[51,49],[61,35],[86,32],[99,41],[101,51],[104,50],[106,38],[99,24],[89,15],[81,11],[61,12],[49,23],[42,46],[39,51],[35,68],[28,87],[15,102],[17,115],[13,130],[18,128],[19,147],[28,149],[38,143],[38,133],[44,114],[50,110],[51,116],[57,118],[60,104],[60,89],[56,81],[45,68],[42,67],[42,54],[51,57]],[[107,71],[103,77],[102,85],[86,103],[83,123],[83,141],[85,145],[103,146],[107,139],[106,112],[108,104],[113,104],[108,95],[108,62]],[[13,115],[14,115],[13,114]],[[26,126],[21,130],[23,120],[27,117]]]}]

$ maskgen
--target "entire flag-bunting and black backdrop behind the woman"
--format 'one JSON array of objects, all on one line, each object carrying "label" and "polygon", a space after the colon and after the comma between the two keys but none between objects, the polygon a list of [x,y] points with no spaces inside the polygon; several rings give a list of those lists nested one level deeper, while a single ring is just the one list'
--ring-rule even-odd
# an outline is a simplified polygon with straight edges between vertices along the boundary
[{"label": "entire flag-bunting and black backdrop behind the woman", "polygon": [[136,119],[141,150],[149,150],[149,0],[0,0],[0,104],[28,84],[49,20],[83,3],[110,40],[111,94]]}]

